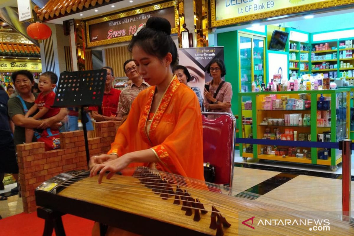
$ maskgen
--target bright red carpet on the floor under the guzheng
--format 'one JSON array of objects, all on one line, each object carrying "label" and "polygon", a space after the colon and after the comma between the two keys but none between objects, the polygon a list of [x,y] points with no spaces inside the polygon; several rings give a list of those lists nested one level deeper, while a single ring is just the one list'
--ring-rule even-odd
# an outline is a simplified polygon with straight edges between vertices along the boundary
[{"label": "bright red carpet on the floor under the guzheng", "polygon": [[[67,236],[89,236],[93,221],[74,215],[63,215],[63,225]],[[37,212],[21,213],[0,220],[0,235],[6,236],[41,236],[44,219],[37,217]],[[55,235],[55,233],[53,233]]]}]

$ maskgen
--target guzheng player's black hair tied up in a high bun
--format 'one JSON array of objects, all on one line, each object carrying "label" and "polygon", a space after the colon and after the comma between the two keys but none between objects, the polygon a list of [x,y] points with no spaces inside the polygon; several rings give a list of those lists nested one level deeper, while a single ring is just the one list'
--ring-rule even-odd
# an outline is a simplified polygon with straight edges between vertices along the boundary
[{"label": "guzheng player's black hair tied up in a high bun", "polygon": [[171,36],[171,24],[162,17],[151,17],[146,22],[145,28],[133,36],[128,50],[133,51],[135,45],[140,46],[146,53],[158,57],[160,60],[167,53],[172,54],[171,67],[177,62],[177,47]]}]

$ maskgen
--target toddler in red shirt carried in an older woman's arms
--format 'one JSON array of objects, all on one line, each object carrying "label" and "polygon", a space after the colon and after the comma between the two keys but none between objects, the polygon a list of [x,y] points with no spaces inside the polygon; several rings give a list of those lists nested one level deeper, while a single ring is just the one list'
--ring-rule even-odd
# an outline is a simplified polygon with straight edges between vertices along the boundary
[{"label": "toddler in red shirt carried in an older woman's arms", "polygon": [[[34,114],[37,109],[39,109],[38,113],[32,117],[35,120],[47,119],[59,113],[60,108],[52,108],[55,99],[53,88],[57,86],[57,82],[58,76],[51,71],[47,71],[39,77],[38,87],[41,92],[34,101],[35,104],[28,110],[24,117],[29,117]],[[26,128],[25,136],[26,143],[32,142],[33,129]]]}]

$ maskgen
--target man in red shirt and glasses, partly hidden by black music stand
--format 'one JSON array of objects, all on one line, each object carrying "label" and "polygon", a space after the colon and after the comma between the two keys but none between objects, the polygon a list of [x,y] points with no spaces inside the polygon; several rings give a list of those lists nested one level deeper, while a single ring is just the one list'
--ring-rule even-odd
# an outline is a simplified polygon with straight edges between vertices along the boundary
[{"label": "man in red shirt and glasses, partly hidden by black music stand", "polygon": [[90,107],[89,110],[95,121],[118,120],[116,113],[121,91],[113,88],[113,69],[107,66],[102,67],[102,69],[107,70],[102,106]]}]

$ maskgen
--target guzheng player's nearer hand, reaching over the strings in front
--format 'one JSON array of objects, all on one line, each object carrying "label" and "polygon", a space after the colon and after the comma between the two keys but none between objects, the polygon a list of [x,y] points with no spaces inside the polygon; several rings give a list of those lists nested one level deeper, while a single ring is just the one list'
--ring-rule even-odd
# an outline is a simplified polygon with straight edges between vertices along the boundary
[{"label": "guzheng player's nearer hand, reaching over the strings in front", "polygon": [[125,154],[112,161],[107,161],[102,164],[96,164],[95,166],[92,167],[90,176],[95,176],[97,172],[101,170],[101,172],[99,172],[98,175],[98,184],[101,184],[103,175],[105,174],[106,171],[109,171],[107,175],[107,179],[110,179],[113,177],[113,175],[115,175],[116,172],[127,167],[131,163],[130,160],[131,159],[129,154]]}]

